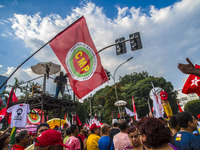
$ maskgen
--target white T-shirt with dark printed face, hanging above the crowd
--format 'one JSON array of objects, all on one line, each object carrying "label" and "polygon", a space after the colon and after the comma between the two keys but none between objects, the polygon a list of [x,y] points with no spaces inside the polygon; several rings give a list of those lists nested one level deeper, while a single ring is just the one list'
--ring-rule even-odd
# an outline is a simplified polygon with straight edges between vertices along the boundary
[{"label": "white T-shirt with dark printed face, hanging above the crowd", "polygon": [[11,116],[11,128],[18,127],[24,128],[26,127],[27,122],[27,114],[30,113],[29,104],[17,104],[9,107],[7,109],[8,113],[12,113]]}]

